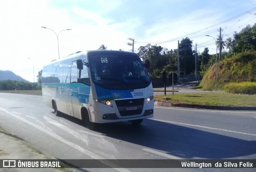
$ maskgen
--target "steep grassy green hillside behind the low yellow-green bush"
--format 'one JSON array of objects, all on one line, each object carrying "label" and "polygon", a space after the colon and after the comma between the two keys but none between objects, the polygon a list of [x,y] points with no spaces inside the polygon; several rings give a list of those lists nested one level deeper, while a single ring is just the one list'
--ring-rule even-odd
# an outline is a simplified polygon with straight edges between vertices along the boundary
[{"label": "steep grassy green hillside behind the low yellow-green bush", "polygon": [[[223,90],[224,85],[229,82],[242,81],[256,82],[256,51],[239,53],[218,63],[219,90]],[[203,76],[199,87],[204,90],[216,89],[216,64]]]}]

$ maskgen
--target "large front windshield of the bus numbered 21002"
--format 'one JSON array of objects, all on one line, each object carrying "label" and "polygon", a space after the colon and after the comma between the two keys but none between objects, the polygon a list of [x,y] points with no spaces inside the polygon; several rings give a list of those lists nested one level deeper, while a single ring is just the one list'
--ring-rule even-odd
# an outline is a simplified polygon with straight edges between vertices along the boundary
[{"label": "large front windshield of the bus numbered 21002", "polygon": [[137,55],[88,56],[92,81],[106,89],[139,89],[151,81]]}]

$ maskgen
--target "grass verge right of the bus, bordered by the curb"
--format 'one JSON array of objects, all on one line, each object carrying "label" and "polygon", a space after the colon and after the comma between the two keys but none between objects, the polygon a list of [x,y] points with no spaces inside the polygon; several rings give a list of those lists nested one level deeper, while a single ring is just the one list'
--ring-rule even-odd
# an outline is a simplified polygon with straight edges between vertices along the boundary
[{"label": "grass verge right of the bus, bordered by the curb", "polygon": [[[170,100],[165,100],[168,97]],[[169,95],[155,95],[155,101],[164,103],[183,103],[197,105],[243,106],[255,107],[256,95],[240,95],[231,93],[182,93]]]}]

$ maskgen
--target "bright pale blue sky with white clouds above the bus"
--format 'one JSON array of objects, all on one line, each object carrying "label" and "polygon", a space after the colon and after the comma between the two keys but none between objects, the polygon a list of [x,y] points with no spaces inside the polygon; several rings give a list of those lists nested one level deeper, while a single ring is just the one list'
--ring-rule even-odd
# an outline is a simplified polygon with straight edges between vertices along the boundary
[{"label": "bright pale blue sky with white clouds above the bus", "polygon": [[135,52],[148,43],[177,49],[188,37],[198,52],[214,54],[220,28],[226,40],[253,26],[255,13],[256,0],[1,0],[0,70],[34,82],[59,55],[102,44],[131,51],[128,38]]}]

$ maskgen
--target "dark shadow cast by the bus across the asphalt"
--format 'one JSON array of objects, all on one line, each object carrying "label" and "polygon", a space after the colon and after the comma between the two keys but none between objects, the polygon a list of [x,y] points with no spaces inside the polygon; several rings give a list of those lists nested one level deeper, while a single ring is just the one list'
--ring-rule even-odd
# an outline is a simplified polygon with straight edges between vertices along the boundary
[{"label": "dark shadow cast by the bus across the asphalt", "polygon": [[[144,119],[139,126],[134,127],[127,122],[111,123],[100,125],[96,131],[118,140],[185,159],[239,158],[256,154],[255,140],[243,140],[217,134],[220,131],[205,130]],[[240,137],[238,133],[232,135]]]}]

